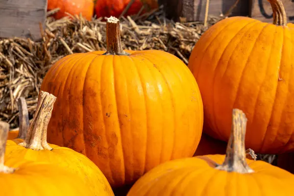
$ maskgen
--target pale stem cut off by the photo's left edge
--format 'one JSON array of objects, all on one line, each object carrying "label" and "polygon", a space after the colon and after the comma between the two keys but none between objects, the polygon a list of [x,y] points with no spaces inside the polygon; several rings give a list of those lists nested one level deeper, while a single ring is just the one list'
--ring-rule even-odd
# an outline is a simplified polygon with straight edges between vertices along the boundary
[{"label": "pale stem cut off by the photo's left edge", "polygon": [[14,168],[9,168],[4,165],[4,155],[6,148],[6,141],[9,131],[9,124],[0,121],[0,172],[2,173],[13,173]]}]

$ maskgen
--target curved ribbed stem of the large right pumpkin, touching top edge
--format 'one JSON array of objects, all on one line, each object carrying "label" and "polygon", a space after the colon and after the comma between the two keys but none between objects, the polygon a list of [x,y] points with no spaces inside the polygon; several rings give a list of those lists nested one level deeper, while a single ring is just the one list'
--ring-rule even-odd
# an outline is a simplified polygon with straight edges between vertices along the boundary
[{"label": "curved ribbed stem of the large right pumpkin, touching top edge", "polygon": [[268,0],[272,9],[274,25],[287,26],[287,16],[281,0]]}]

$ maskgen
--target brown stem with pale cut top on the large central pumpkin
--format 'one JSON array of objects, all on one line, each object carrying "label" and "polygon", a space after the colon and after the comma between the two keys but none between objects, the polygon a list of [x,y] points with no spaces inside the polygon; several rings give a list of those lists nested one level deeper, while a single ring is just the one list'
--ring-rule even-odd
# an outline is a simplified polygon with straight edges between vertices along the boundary
[{"label": "brown stem with pale cut top on the large central pumpkin", "polygon": [[104,55],[129,55],[129,53],[123,51],[120,20],[113,16],[107,18],[106,43],[107,52]]}]

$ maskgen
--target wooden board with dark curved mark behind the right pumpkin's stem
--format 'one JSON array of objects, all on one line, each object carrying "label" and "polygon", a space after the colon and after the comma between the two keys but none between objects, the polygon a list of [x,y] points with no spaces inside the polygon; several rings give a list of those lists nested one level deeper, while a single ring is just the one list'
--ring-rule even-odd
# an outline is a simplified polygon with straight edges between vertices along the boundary
[{"label": "wooden board with dark curved mark behind the right pumpkin's stem", "polygon": [[[294,2],[293,0],[281,0],[286,14],[288,22],[294,22]],[[272,23],[272,10],[270,2],[268,0],[252,0],[251,14],[254,19]]]}]

